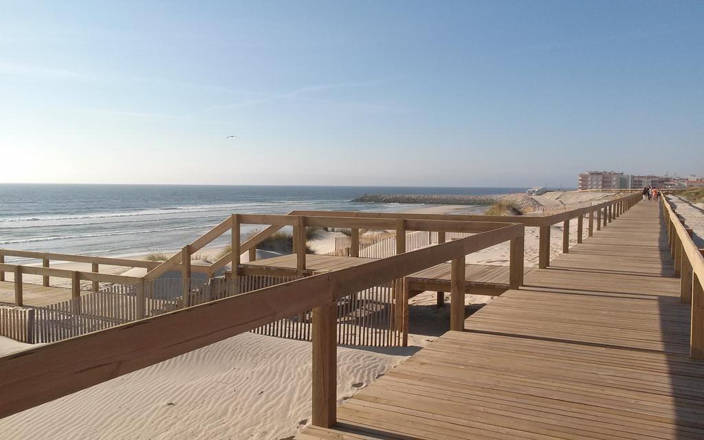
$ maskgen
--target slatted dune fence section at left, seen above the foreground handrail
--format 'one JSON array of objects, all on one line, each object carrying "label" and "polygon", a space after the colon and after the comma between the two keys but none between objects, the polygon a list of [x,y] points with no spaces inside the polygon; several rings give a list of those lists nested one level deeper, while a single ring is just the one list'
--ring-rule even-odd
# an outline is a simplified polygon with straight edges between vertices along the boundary
[{"label": "slatted dune fence section at left, seen above the foreground handrail", "polygon": [[1,307],[0,336],[29,344],[56,342],[297,278],[248,275],[209,282],[193,279],[187,296],[182,279],[146,282],[143,295],[137,284],[113,284],[49,306]]}]

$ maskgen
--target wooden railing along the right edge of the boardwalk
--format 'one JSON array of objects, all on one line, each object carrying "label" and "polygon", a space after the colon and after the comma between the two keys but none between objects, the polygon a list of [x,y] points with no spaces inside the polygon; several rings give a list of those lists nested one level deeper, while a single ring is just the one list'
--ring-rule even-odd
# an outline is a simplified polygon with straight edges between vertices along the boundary
[{"label": "wooden railing along the right edge of the boardwalk", "polygon": [[680,278],[680,301],[691,306],[689,353],[693,359],[704,359],[704,249],[697,249],[692,241],[693,231],[672,209],[667,196],[660,197],[660,202],[674,258],[674,275]]}]

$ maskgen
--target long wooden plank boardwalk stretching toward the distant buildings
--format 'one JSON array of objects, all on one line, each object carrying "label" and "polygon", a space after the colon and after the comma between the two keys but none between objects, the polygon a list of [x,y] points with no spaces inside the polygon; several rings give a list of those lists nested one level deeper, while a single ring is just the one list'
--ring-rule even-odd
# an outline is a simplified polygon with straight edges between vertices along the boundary
[{"label": "long wooden plank boardwalk stretching toward the distant buildings", "polygon": [[704,363],[655,204],[507,291],[313,439],[704,439]]}]

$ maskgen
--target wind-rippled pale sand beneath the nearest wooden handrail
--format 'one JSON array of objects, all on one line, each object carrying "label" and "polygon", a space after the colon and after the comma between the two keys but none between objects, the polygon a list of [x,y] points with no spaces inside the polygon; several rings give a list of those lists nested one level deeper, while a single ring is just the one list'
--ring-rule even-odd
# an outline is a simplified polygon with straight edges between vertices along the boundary
[{"label": "wind-rippled pale sand beneath the nearest wooden handrail", "polygon": [[[415,350],[340,347],[339,400]],[[310,420],[310,361],[308,342],[241,334],[6,417],[0,432],[4,440],[287,439]]]}]

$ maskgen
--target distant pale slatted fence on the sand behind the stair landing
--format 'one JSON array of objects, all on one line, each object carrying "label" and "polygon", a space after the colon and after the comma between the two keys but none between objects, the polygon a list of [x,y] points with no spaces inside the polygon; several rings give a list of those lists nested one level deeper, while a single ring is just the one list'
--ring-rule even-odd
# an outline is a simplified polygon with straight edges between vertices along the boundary
[{"label": "distant pale slatted fence on the sand behind the stair landing", "polygon": [[[446,241],[463,239],[474,232],[446,232]],[[437,232],[406,232],[406,251],[415,251],[423,246],[438,244]],[[327,253],[334,256],[350,255],[350,237],[336,237],[335,250]],[[363,258],[387,258],[396,255],[396,234],[380,234],[373,237],[360,237],[359,256]]]}]

